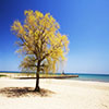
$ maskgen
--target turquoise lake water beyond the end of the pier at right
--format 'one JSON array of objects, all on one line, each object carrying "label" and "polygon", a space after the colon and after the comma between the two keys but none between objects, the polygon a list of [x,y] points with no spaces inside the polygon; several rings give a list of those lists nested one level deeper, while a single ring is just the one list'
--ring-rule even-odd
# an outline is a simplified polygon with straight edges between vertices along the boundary
[{"label": "turquoise lake water beyond the end of the pier at right", "polygon": [[70,80],[109,82],[109,74],[78,74],[78,77],[72,77]]}]

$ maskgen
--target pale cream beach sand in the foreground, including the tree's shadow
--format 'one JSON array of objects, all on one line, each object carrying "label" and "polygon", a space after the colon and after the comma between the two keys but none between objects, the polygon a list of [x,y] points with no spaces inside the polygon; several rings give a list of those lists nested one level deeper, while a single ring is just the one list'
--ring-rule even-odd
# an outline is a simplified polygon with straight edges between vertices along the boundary
[{"label": "pale cream beach sand in the foreground, including the tree's shadow", "polygon": [[0,109],[109,109],[109,83],[40,80],[45,89],[34,87],[35,80],[0,78]]}]

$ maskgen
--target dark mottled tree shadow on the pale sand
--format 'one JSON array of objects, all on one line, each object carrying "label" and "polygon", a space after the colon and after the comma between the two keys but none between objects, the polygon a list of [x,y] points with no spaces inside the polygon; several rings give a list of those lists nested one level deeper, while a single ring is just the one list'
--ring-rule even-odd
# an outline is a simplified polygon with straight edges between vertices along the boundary
[{"label": "dark mottled tree shadow on the pale sand", "polygon": [[40,92],[34,92],[32,87],[4,87],[0,89],[0,95],[5,97],[48,97],[55,94],[55,92],[41,88]]}]

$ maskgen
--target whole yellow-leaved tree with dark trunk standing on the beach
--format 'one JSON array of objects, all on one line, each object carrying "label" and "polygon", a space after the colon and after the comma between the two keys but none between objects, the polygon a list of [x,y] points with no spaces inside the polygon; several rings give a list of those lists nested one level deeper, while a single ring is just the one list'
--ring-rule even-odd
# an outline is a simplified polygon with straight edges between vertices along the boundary
[{"label": "whole yellow-leaved tree with dark trunk standing on the beach", "polygon": [[58,62],[65,60],[69,40],[59,32],[59,24],[49,14],[28,10],[25,21],[14,21],[11,29],[19,40],[19,53],[24,55],[22,70],[36,71],[36,87],[39,92],[39,73],[56,72]]}]

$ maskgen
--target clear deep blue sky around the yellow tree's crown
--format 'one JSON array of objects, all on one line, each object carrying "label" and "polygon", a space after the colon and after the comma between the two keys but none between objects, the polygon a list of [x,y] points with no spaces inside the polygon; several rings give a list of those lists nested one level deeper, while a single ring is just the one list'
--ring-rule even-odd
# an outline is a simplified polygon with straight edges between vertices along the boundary
[{"label": "clear deep blue sky around the yellow tree's crown", "polygon": [[0,0],[0,71],[17,71],[15,20],[24,10],[50,14],[70,39],[65,72],[109,74],[109,0]]}]

